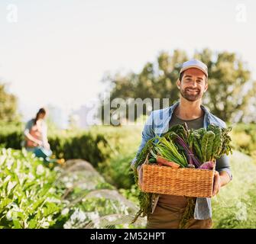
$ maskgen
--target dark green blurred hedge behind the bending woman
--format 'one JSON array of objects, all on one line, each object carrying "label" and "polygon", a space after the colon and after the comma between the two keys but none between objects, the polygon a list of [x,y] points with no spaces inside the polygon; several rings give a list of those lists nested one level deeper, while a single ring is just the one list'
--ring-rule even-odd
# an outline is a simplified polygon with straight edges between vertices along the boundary
[{"label": "dark green blurred hedge behind the bending woman", "polygon": [[[21,149],[23,127],[21,124],[0,124],[0,146]],[[48,136],[53,155],[64,159],[85,159],[97,166],[104,162],[112,153],[109,143],[102,133],[86,131],[55,132]]]}]

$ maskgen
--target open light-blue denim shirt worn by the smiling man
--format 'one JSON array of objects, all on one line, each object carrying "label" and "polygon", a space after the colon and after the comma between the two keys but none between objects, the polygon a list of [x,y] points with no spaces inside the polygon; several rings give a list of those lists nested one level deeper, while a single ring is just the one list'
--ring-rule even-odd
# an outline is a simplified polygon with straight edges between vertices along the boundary
[{"label": "open light-blue denim shirt worn by the smiling man", "polygon": [[[136,162],[138,154],[144,148],[147,140],[154,138],[157,136],[162,136],[164,133],[169,130],[169,121],[172,117],[173,111],[179,105],[179,101],[168,108],[160,109],[157,111],[152,111],[150,116],[148,117],[146,124],[144,125],[144,129],[142,131],[142,140],[141,145],[138,148],[138,152],[135,158],[131,161],[131,169],[134,169],[134,163]],[[205,112],[203,127],[208,127],[209,124],[215,124],[219,127],[226,127],[226,124],[223,120],[219,119],[215,115],[211,114],[203,105],[201,108]],[[215,169],[218,172],[228,172],[230,179],[232,179],[232,172],[229,166],[228,156],[222,156],[220,159],[216,159]],[[154,212],[155,207],[157,206],[157,201],[159,199],[160,194],[152,194],[152,213]],[[210,197],[197,197],[196,198],[196,207],[194,211],[194,218],[196,220],[206,220],[212,218],[212,205]]]}]

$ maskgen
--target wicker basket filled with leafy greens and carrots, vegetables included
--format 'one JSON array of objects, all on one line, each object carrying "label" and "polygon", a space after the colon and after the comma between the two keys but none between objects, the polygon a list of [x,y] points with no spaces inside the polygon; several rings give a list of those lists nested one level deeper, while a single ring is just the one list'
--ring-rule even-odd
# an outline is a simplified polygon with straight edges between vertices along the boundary
[{"label": "wicker basket filled with leafy greens and carrots, vegetables included", "polygon": [[231,152],[230,130],[213,124],[188,130],[182,124],[148,141],[137,162],[143,164],[141,191],[212,197],[215,160]]}]

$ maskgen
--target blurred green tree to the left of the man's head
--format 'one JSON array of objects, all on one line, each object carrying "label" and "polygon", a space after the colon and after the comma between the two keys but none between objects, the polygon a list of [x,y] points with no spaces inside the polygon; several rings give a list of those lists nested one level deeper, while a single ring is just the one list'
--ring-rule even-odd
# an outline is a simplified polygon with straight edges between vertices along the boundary
[{"label": "blurred green tree to the left of the man's head", "polygon": [[[157,56],[157,62],[146,63],[139,73],[130,72],[126,75],[121,75],[120,73],[106,75],[102,82],[109,82],[109,87],[112,88],[110,90],[110,102],[115,98],[141,98],[142,100],[147,99],[146,104],[154,104],[154,98],[168,98],[168,105],[170,105],[179,98],[176,82],[179,76],[180,64],[186,59],[186,53],[182,50],[175,50],[173,56],[169,56],[168,53],[163,51]],[[103,102],[103,99],[100,99]],[[160,101],[159,108],[163,107],[165,107],[165,104],[163,101]],[[138,112],[137,108],[137,101],[127,103],[125,106],[127,112],[121,113],[122,115],[119,115],[117,120],[120,117],[128,118],[131,114],[134,114],[134,119],[136,120],[142,114],[149,112],[146,106],[143,107],[142,113]],[[115,108],[111,108],[109,117],[115,111]],[[99,113],[101,113],[101,118],[103,118],[104,105],[101,106]]]}]

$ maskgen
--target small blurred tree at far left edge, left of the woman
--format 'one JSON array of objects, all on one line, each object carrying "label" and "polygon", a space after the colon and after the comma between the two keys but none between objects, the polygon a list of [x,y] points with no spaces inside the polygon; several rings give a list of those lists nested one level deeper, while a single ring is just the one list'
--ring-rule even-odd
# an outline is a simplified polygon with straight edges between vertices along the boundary
[{"label": "small blurred tree at far left edge, left of the woman", "polygon": [[6,91],[6,84],[0,84],[0,120],[4,122],[18,120],[17,98]]}]

